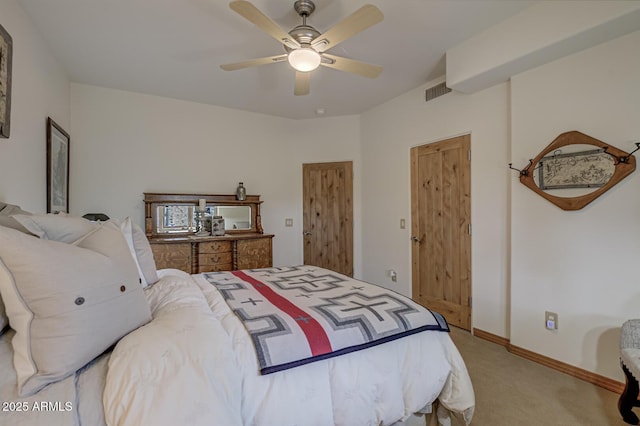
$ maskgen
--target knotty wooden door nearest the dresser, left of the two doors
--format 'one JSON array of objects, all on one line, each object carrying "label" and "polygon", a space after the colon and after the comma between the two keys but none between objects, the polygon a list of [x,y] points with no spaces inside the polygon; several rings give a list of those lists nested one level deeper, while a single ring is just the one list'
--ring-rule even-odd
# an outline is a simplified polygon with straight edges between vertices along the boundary
[{"label": "knotty wooden door nearest the dresser, left of the two doors", "polygon": [[353,276],[353,164],[302,165],[304,263]]}]

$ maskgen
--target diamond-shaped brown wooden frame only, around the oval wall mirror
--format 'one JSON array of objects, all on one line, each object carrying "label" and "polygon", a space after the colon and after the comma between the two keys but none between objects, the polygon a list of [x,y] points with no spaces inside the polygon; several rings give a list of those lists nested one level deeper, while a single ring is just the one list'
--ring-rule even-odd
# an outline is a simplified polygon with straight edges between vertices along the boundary
[{"label": "diamond-shaped brown wooden frame only, around the oval wall mirror", "polygon": [[[594,190],[593,192],[577,197],[558,197],[540,189],[533,179],[533,172],[538,167],[540,160],[548,154],[553,153],[559,148],[567,145],[593,145],[598,148],[602,148],[604,152],[611,155],[614,159],[615,169],[613,172],[613,176],[611,176],[611,179],[609,179],[606,184]],[[633,154],[624,152],[621,149],[611,146],[610,144],[606,144],[598,139],[592,138],[589,135],[585,135],[584,133],[574,130],[560,134],[557,138],[554,139],[553,142],[551,142],[545,149],[543,149],[536,158],[530,160],[529,165],[522,171],[520,171],[520,182],[536,194],[560,207],[562,210],[580,210],[587,204],[607,192],[609,189],[614,187],[622,179],[633,173],[635,169],[636,158]]]}]

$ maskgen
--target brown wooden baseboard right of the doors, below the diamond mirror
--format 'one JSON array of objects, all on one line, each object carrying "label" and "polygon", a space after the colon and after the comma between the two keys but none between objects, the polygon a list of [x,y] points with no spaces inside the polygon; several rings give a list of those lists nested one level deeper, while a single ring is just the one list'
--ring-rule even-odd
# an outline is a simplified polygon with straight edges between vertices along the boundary
[{"label": "brown wooden baseboard right of the doors, below the diamond mirror", "polygon": [[473,329],[473,335],[479,337],[480,339],[488,340],[489,342],[504,346],[509,352],[514,355],[521,356],[522,358],[526,358],[530,361],[560,371],[561,373],[565,373],[580,380],[584,380],[585,382],[600,386],[601,388],[607,389],[611,392],[620,394],[624,390],[624,383],[601,376],[596,373],[592,373],[591,371],[583,370],[582,368],[566,364],[556,359],[549,358],[548,356],[540,355],[528,349],[512,345],[511,341],[507,338],[500,337],[495,334],[479,330],[477,328]]}]

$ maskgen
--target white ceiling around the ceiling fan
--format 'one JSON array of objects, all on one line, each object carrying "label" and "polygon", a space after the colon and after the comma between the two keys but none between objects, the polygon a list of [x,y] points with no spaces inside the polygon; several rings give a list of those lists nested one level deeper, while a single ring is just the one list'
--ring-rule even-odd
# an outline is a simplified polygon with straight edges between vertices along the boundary
[{"label": "white ceiling around the ceiling fan", "polygon": [[[294,96],[294,71],[276,63],[221,64],[284,53],[221,0],[19,0],[72,82],[288,118],[362,113],[445,73],[445,52],[535,1],[369,0],[384,20],[328,53],[383,67],[376,79],[321,67]],[[321,32],[366,0],[316,0]],[[283,29],[301,23],[293,0],[252,0]],[[16,48],[16,47],[14,47]]]}]

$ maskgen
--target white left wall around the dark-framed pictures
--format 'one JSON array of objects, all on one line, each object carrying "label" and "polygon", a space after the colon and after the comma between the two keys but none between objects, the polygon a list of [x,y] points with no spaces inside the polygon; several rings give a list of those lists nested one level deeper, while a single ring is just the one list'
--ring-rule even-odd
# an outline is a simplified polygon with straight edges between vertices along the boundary
[{"label": "white left wall around the dark-framed pictures", "polygon": [[0,25],[13,39],[11,133],[0,139],[0,201],[44,212],[47,117],[69,129],[69,80],[15,0],[0,2]]}]

